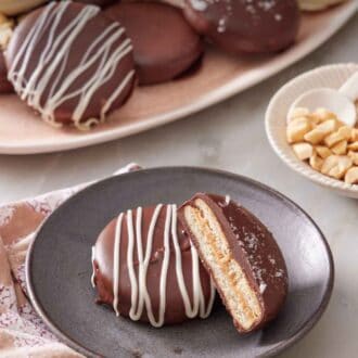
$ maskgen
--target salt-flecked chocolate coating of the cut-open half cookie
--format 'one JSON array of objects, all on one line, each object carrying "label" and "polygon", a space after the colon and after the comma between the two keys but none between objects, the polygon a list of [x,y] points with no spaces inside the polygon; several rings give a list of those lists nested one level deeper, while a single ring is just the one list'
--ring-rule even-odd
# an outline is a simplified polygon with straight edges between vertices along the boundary
[{"label": "salt-flecked chocolate coating of the cut-open half cookie", "polygon": [[[183,208],[187,205],[196,206],[196,199],[203,200],[216,216],[233,258],[241,266],[251,287],[259,299],[263,314],[260,321],[252,330],[263,328],[277,317],[287,294],[287,270],[277,242],[265,225],[247,209],[236,205],[231,200],[228,202],[226,197],[199,193],[178,210],[179,221],[190,234],[191,241],[197,250],[196,239],[192,234],[183,214]],[[200,250],[199,254],[203,258]],[[208,271],[212,271],[205,260],[203,264]],[[216,287],[223,304],[226,304],[226,297],[217,282]],[[238,321],[234,321],[234,324],[240,332],[247,332]]]}]

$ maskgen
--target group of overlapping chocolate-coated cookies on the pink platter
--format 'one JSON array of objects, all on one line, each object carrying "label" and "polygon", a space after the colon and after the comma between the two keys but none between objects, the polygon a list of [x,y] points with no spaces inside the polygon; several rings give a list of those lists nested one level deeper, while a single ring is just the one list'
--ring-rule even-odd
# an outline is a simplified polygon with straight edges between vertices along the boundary
[{"label": "group of overlapping chocolate-coated cookies on the pink platter", "polygon": [[[0,91],[20,99],[53,126],[91,128],[120,107],[136,84],[175,79],[203,56],[204,39],[223,51],[267,53],[295,40],[296,0],[22,1],[28,11],[0,55]],[[0,5],[1,11],[1,5]]]}]

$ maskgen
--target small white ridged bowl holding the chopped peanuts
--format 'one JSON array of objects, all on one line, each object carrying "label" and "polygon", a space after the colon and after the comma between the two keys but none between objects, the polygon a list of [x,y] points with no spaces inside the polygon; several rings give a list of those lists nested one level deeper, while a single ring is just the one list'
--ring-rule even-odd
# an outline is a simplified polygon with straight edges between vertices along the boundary
[{"label": "small white ridged bowl holding the chopped peanuts", "polygon": [[[266,133],[271,146],[290,168],[342,195],[358,199],[358,186],[347,184],[314,170],[308,164],[296,157],[286,141],[286,116],[291,104],[298,95],[312,88],[338,89],[356,71],[358,71],[358,64],[350,63],[323,66],[299,75],[273,95],[267,108],[265,122]],[[317,106],[319,107],[319,103]]]}]

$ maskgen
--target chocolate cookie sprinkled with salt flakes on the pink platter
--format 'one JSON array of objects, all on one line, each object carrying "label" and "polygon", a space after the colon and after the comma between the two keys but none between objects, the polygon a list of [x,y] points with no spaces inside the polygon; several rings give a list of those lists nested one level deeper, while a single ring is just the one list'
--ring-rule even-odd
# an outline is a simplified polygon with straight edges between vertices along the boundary
[{"label": "chocolate cookie sprinkled with salt flakes on the pink platter", "polygon": [[186,0],[184,15],[201,34],[225,51],[277,52],[296,38],[296,0]]}]

